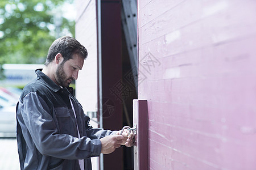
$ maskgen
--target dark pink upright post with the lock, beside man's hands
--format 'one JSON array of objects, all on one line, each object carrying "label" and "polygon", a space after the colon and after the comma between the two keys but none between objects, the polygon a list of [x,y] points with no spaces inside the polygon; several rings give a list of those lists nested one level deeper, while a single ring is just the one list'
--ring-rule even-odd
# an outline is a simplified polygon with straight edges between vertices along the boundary
[{"label": "dark pink upright post with the lock, beside man's hands", "polygon": [[133,100],[134,170],[148,169],[147,100]]}]

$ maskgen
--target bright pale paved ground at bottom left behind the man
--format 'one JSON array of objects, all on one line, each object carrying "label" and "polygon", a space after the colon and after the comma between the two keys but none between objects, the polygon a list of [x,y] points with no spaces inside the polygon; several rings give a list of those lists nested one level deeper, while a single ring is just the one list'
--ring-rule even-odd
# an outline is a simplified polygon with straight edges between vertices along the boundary
[{"label": "bright pale paved ground at bottom left behind the man", "polygon": [[0,138],[0,169],[18,170],[19,156],[17,151],[17,142],[15,138]]}]

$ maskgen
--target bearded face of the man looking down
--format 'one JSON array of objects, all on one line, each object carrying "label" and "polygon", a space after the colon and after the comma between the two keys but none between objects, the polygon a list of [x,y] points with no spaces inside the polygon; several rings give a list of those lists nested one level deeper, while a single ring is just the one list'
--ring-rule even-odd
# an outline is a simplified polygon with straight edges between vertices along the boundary
[{"label": "bearded face of the man looking down", "polygon": [[73,59],[63,61],[57,66],[55,73],[55,79],[57,84],[61,87],[68,87],[72,80],[76,80],[78,77],[79,70],[84,65],[84,58],[77,54],[73,55]]}]

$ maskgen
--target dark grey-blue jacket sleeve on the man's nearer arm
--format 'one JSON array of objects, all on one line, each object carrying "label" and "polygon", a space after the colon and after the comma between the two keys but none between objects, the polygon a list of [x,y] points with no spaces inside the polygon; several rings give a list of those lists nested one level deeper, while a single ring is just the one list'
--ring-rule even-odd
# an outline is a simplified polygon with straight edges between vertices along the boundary
[{"label": "dark grey-blue jacket sleeve on the man's nearer arm", "polygon": [[[35,145],[42,155],[61,159],[85,159],[98,156],[101,152],[99,139],[76,138],[68,134],[58,134],[50,110],[42,97],[30,92],[19,102],[17,118],[29,145]],[[27,133],[26,133],[27,132]]]}]

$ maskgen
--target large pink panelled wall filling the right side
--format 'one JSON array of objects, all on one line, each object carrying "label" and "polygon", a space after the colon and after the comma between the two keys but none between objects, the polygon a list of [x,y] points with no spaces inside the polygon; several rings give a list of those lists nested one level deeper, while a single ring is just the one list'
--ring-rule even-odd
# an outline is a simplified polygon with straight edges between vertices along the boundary
[{"label": "large pink panelled wall filling the right side", "polygon": [[256,169],[256,1],[139,0],[150,169]]}]

